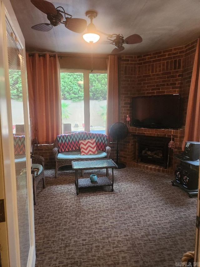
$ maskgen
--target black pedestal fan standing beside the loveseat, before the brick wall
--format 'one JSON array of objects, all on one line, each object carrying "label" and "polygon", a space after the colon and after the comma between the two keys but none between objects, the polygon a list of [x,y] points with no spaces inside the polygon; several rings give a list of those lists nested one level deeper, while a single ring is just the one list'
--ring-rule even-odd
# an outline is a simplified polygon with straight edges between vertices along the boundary
[{"label": "black pedestal fan standing beside the loveseat, before the brick wall", "polygon": [[128,127],[122,122],[116,122],[110,127],[110,136],[117,141],[117,161],[118,169],[125,168],[126,165],[118,163],[118,142],[125,139],[128,136]]}]

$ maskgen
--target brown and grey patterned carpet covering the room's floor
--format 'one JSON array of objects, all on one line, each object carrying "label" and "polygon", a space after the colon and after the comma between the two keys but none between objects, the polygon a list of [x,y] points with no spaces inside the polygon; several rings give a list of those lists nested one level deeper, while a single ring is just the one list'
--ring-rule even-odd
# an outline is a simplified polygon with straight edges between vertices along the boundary
[{"label": "brown and grey patterned carpet covering the room's floor", "polygon": [[[91,173],[105,176],[84,177]],[[173,186],[173,176],[114,169],[114,192],[77,196],[72,170],[54,175],[45,170],[46,188],[37,186],[36,267],[173,267],[194,250],[197,197]]]}]

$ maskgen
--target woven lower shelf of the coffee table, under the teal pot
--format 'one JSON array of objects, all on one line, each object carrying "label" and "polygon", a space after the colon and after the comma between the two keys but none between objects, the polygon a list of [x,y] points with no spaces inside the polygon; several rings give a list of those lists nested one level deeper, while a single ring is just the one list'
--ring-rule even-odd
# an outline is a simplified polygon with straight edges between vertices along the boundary
[{"label": "woven lower shelf of the coffee table, under the teal pot", "polygon": [[[96,182],[91,182],[90,178],[78,179],[78,188],[100,187],[100,186],[112,186],[112,182],[108,179],[108,177],[98,177]],[[113,186],[112,186],[112,192],[113,192]]]}]

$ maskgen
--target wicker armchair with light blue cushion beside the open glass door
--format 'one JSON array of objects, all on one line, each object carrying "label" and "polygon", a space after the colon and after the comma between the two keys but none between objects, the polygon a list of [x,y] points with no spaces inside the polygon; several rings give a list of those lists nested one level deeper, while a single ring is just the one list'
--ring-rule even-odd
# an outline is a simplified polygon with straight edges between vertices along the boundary
[{"label": "wicker armchair with light blue cushion beside the open glass door", "polygon": [[[39,171],[38,168],[41,168],[42,171],[38,172]],[[33,201],[34,201],[34,205],[36,205],[36,203],[37,203],[36,187],[37,187],[38,182],[42,179],[43,180],[43,188],[46,187],[45,178],[44,178],[44,158],[42,156],[33,156],[32,169],[33,169],[33,171],[32,171]]]}]

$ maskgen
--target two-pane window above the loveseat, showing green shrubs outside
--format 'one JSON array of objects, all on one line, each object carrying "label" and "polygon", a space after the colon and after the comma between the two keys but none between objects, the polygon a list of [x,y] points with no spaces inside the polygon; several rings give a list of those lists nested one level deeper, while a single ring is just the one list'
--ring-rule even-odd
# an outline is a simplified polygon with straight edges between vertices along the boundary
[{"label": "two-pane window above the loveseat, showing green shrubs outside", "polygon": [[61,70],[62,123],[72,131],[105,133],[107,72]]}]

